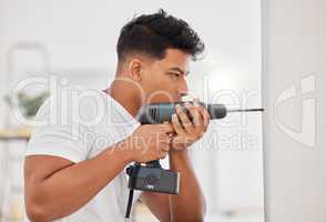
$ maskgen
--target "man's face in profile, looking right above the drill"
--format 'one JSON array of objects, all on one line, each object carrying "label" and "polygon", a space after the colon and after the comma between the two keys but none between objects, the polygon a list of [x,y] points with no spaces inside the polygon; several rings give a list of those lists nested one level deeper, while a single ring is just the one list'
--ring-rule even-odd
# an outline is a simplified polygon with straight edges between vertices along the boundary
[{"label": "man's face in profile, looking right above the drill", "polygon": [[144,62],[141,85],[145,92],[145,103],[176,102],[187,94],[190,54],[167,49],[165,58]]}]

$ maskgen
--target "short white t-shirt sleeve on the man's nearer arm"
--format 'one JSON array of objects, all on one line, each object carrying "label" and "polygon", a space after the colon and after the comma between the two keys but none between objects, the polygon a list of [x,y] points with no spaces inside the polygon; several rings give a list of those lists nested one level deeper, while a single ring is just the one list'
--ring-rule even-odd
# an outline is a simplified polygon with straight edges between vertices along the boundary
[{"label": "short white t-shirt sleeve on the man's nearer arm", "polygon": [[[86,159],[90,144],[84,140],[85,128],[71,112],[51,112],[50,99],[39,109],[26,155],[54,155],[80,162]],[[54,108],[57,110],[57,108]]]}]

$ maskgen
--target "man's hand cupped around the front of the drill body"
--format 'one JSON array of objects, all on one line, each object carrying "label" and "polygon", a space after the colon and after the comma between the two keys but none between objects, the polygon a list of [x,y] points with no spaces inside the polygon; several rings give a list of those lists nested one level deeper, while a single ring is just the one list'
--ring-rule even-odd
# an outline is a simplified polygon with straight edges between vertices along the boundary
[{"label": "man's hand cupped around the front of the drill body", "polygon": [[208,111],[198,104],[198,100],[194,101],[194,105],[185,103],[193,121],[182,110],[181,105],[176,105],[176,114],[172,117],[172,125],[176,134],[172,141],[173,150],[183,150],[201,139],[206,132],[211,115]]}]

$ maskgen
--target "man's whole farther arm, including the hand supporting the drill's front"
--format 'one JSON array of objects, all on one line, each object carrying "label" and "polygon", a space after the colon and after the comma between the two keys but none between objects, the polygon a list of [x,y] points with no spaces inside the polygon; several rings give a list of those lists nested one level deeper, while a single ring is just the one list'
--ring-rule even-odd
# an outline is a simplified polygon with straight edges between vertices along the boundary
[{"label": "man's whole farther arm, including the hand supporting the drill's front", "polygon": [[[205,108],[186,104],[192,121],[182,109],[176,108],[176,115],[172,118],[174,129],[173,142],[170,149],[170,168],[181,173],[180,193],[165,195],[161,193],[143,192],[142,200],[160,221],[204,221],[206,211],[205,198],[191,165],[187,152],[172,152],[184,150],[202,138],[210,123],[210,113]],[[181,120],[179,122],[177,118]],[[166,124],[170,125],[170,124]]]}]

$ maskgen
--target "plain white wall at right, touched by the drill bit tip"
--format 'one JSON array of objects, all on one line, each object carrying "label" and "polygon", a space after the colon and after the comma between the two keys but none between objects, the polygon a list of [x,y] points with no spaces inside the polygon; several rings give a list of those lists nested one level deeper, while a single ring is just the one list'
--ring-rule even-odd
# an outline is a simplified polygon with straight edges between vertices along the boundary
[{"label": "plain white wall at right, touched by the drill bit tip", "polygon": [[267,221],[324,222],[326,1],[263,2]]}]

